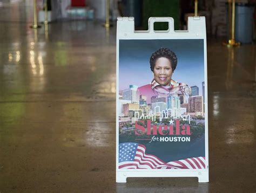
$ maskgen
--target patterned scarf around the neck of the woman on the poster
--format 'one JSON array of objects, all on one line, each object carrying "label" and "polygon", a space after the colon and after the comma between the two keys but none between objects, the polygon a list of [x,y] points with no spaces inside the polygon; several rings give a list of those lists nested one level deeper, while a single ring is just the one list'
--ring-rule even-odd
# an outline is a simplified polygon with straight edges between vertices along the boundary
[{"label": "patterned scarf around the neck of the woman on the poster", "polygon": [[184,94],[189,96],[191,93],[191,88],[184,84],[179,83],[174,80],[171,80],[171,84],[169,86],[161,86],[157,83],[156,80],[152,80],[151,88],[153,89],[156,95],[163,94],[163,95],[174,95],[174,94]]}]

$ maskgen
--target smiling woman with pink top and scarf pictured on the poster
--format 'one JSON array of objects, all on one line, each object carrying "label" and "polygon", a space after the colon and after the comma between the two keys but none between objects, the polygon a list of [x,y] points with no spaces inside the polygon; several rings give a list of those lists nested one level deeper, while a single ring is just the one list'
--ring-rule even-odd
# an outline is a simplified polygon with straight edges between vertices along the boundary
[{"label": "smiling woman with pink top and scarf pictured on the poster", "polygon": [[191,89],[188,85],[172,80],[172,74],[176,70],[177,56],[167,48],[160,48],[150,57],[150,69],[153,72],[151,84],[139,87],[140,95],[147,97],[147,103],[151,103],[152,96],[167,97],[183,94],[189,97]]}]

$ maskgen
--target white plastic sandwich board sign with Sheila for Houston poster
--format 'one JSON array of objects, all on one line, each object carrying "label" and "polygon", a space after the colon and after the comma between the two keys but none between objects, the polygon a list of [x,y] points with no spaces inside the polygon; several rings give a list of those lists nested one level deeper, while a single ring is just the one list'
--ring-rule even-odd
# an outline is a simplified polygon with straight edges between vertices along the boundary
[{"label": "white plastic sandwich board sign with Sheila for Houston poster", "polygon": [[[155,22],[169,29],[155,31]],[[205,17],[174,31],[171,17],[117,20],[116,182],[198,177],[208,182]]]}]

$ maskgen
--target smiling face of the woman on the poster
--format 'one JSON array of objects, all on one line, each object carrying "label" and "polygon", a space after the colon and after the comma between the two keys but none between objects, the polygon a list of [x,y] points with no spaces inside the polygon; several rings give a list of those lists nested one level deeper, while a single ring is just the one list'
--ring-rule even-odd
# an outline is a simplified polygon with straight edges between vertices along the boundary
[{"label": "smiling face of the woman on the poster", "polygon": [[172,79],[172,65],[169,59],[158,58],[154,65],[154,79],[159,85],[170,85]]}]

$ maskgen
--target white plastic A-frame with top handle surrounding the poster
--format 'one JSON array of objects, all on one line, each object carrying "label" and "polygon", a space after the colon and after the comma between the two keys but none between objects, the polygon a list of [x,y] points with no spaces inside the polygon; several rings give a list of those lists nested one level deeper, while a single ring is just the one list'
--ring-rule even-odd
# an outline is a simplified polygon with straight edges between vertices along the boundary
[{"label": "white plastic A-frame with top handle surrounding the poster", "polygon": [[[169,29],[155,31],[154,22],[168,22]],[[118,169],[119,144],[119,40],[122,39],[204,39],[204,81],[205,81],[205,164],[206,169]],[[188,30],[174,31],[172,17],[150,17],[149,30],[134,31],[134,17],[117,18],[117,80],[116,80],[116,182],[126,183],[127,177],[198,177],[199,182],[209,182],[208,168],[208,93],[207,93],[207,52],[205,17],[188,17]]]}]

